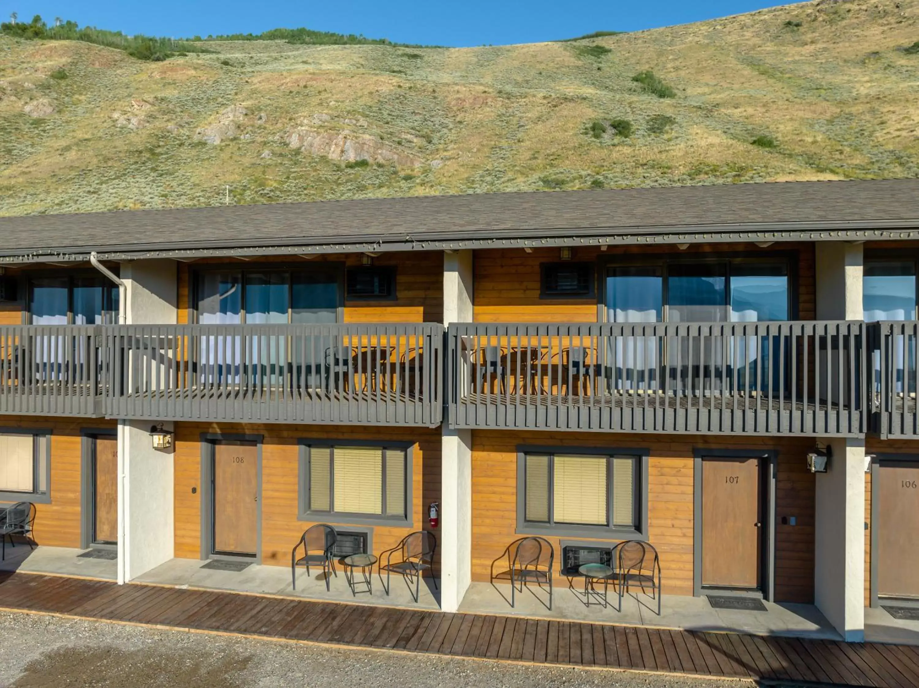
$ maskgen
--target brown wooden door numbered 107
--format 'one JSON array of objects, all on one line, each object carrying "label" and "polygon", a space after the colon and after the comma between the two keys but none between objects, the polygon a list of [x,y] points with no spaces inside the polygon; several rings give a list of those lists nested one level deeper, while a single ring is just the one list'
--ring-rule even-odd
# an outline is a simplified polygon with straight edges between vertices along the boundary
[{"label": "brown wooden door numbered 107", "polygon": [[762,504],[759,459],[702,460],[702,585],[760,587]]}]

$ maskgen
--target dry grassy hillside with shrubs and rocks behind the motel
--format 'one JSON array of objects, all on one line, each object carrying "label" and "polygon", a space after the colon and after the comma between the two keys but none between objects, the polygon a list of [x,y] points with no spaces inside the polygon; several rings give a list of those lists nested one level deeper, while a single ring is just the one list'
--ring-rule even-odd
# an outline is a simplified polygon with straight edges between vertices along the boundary
[{"label": "dry grassy hillside with shrubs and rocks behind the motel", "polygon": [[919,0],[505,47],[208,41],[166,62],[0,37],[0,214],[217,205],[226,185],[267,203],[919,176],[916,40]]}]

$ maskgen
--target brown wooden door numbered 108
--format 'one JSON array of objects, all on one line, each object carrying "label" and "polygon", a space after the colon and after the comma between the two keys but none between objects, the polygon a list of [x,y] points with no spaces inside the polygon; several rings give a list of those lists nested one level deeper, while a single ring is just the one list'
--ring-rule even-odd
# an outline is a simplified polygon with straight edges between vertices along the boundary
[{"label": "brown wooden door numbered 108", "polygon": [[255,555],[258,547],[258,447],[214,445],[214,552]]}]

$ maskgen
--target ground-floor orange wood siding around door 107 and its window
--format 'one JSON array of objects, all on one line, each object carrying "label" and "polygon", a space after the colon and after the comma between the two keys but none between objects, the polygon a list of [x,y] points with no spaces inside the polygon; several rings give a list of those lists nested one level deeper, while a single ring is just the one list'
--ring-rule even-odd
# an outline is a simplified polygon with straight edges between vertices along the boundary
[{"label": "ground-floor orange wood siding around door 107 and its window", "polygon": [[[805,467],[807,438],[714,438],[692,435],[472,432],[472,577],[488,581],[491,562],[516,534],[516,447],[648,447],[649,540],[661,556],[664,592],[693,593],[693,450],[774,449],[776,486],[776,599],[813,601],[814,478]],[[797,525],[783,525],[796,516]],[[561,557],[559,537],[550,537]],[[565,536],[562,539],[589,539]],[[563,581],[560,582],[563,584]]]}]

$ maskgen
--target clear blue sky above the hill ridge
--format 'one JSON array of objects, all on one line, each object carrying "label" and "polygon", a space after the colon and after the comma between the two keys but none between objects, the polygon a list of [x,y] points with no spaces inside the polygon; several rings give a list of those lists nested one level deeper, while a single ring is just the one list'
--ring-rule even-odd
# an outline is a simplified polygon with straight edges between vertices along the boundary
[{"label": "clear blue sky above the hill ridge", "polygon": [[768,0],[0,0],[0,17],[40,14],[81,26],[173,38],[307,27],[406,43],[448,46],[527,43],[597,30],[633,31],[781,5]]}]

